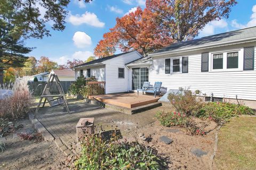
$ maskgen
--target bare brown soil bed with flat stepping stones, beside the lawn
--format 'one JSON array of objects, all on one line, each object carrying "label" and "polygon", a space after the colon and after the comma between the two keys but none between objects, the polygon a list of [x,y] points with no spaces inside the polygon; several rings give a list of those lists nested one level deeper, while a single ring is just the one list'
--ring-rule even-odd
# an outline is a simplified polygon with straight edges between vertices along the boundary
[{"label": "bare brown soil bed with flat stepping stones, beside the lawn", "polygon": [[[170,129],[179,131],[172,132]],[[169,169],[210,169],[215,132],[216,130],[213,130],[203,136],[187,135],[185,129],[166,128],[156,121],[138,129],[136,133],[131,133],[126,140],[134,140],[136,137],[140,142],[156,149],[158,154],[167,160]],[[140,140],[139,133],[144,133],[147,141]],[[166,145],[159,140],[162,136],[172,139],[173,142]],[[207,154],[197,157],[191,153],[191,149],[201,149]]]}]

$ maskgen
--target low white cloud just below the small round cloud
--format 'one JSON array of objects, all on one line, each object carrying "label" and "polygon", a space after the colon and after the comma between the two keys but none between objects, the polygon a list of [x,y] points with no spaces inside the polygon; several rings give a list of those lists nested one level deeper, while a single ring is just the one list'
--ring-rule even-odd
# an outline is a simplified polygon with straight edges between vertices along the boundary
[{"label": "low white cloud just below the small round cloud", "polygon": [[57,62],[59,65],[63,65],[63,64],[67,64],[68,60],[73,60],[73,59],[86,61],[87,58],[89,58],[90,56],[93,56],[93,53],[90,51],[84,51],[84,52],[78,51],[72,54],[71,56],[68,56],[68,55],[61,56],[53,61]]}]

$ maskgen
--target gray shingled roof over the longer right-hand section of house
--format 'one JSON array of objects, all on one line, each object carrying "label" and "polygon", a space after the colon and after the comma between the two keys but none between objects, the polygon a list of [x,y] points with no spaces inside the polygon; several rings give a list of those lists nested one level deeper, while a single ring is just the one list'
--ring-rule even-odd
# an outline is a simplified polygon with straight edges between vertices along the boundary
[{"label": "gray shingled roof over the longer right-hand section of house", "polygon": [[186,48],[191,48],[191,47],[199,47],[202,45],[213,45],[216,43],[225,43],[227,41],[252,38],[252,37],[256,37],[256,27],[245,28],[245,29],[241,29],[241,30],[220,33],[220,34],[213,35],[213,36],[202,37],[199,39],[174,43],[174,44],[167,46],[163,49],[156,50],[151,55],[154,55],[155,53],[168,52],[168,51],[172,51],[172,50],[178,51],[181,49],[186,49]]}]

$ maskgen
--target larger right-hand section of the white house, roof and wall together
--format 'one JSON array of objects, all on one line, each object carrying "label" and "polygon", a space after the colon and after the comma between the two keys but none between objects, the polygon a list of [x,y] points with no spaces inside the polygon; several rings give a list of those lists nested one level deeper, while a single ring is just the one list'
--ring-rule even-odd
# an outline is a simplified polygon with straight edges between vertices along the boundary
[{"label": "larger right-hand section of the white house, roof and wall together", "polygon": [[148,80],[167,89],[200,90],[207,99],[237,97],[255,108],[255,47],[256,27],[174,43],[149,55]]}]

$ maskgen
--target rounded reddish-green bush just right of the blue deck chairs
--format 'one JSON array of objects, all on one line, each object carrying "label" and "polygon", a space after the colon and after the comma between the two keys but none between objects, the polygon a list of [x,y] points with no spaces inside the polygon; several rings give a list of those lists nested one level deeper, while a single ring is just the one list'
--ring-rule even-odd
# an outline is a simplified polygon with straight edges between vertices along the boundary
[{"label": "rounded reddish-green bush just right of the blue deck chairs", "polygon": [[171,93],[168,96],[175,110],[187,116],[197,114],[204,104],[203,99],[197,97],[189,89],[183,90],[180,88],[180,91],[179,94]]}]

